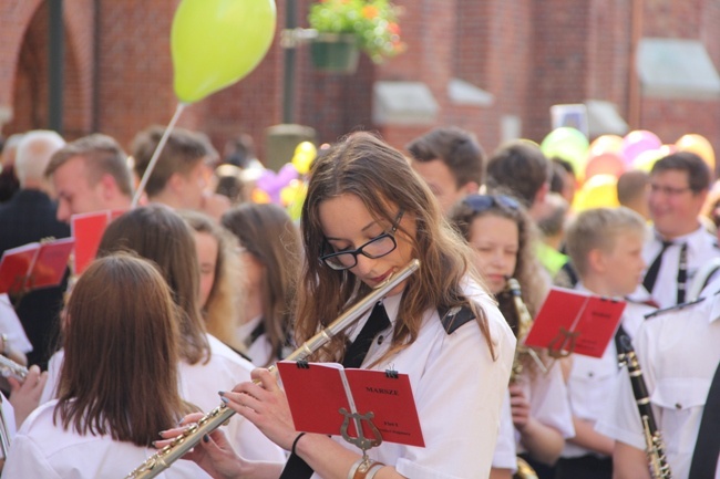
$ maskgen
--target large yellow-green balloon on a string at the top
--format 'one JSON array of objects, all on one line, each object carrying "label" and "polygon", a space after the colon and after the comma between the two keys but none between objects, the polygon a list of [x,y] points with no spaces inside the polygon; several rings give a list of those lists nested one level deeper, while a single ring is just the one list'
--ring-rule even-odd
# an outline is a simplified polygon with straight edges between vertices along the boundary
[{"label": "large yellow-green balloon on a string at the top", "polygon": [[183,0],[171,31],[179,101],[197,102],[250,73],[272,42],[276,15],[272,0]]}]

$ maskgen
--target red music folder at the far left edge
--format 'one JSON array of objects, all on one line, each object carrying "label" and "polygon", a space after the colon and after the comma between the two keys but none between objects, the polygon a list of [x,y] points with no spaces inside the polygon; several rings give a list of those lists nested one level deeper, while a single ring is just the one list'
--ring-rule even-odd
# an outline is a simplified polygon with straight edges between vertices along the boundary
[{"label": "red music folder at the far left edge", "polygon": [[6,250],[0,260],[0,293],[56,287],[65,274],[74,244],[73,238],[62,238]]}]

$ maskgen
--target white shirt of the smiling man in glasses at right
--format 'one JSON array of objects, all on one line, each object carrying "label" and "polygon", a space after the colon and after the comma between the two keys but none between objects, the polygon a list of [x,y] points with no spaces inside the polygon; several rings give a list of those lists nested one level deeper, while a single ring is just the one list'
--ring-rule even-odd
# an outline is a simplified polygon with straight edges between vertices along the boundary
[{"label": "white shirt of the smiling man in glasses at right", "polygon": [[[710,235],[704,227],[699,226],[697,230],[690,235],[675,238],[672,246],[662,254],[662,263],[658,271],[657,281],[652,289],[652,299],[659,304],[660,308],[669,308],[677,304],[678,298],[678,270],[680,267],[680,250],[682,243],[688,244],[688,275],[686,281],[686,292],[689,291],[692,278],[704,263],[712,258],[720,256],[720,249],[716,246],[716,237]],[[662,250],[662,242],[658,235],[655,233],[652,238],[645,243],[642,248],[642,258],[648,268],[655,261],[658,253]],[[686,296],[686,300],[690,298]]]}]

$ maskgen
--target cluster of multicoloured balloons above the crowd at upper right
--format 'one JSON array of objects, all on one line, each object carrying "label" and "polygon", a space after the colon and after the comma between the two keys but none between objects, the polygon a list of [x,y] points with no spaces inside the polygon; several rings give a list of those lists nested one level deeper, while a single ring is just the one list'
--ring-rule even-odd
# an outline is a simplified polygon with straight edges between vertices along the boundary
[{"label": "cluster of multicoloured balloons above the crowd at upper right", "polygon": [[541,149],[548,158],[563,158],[573,166],[582,185],[573,205],[576,210],[617,206],[617,178],[623,173],[630,169],[649,173],[655,162],[673,152],[692,152],[711,171],[716,167],[712,145],[698,134],[683,135],[675,144],[664,145],[652,132],[636,129],[625,137],[601,135],[588,144],[579,131],[560,127],[543,139]]}]

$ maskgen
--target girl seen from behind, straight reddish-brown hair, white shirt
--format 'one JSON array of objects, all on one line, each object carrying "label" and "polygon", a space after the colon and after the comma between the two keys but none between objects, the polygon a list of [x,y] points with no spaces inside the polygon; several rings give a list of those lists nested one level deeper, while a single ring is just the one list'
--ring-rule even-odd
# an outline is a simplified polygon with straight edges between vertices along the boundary
[{"label": "girl seen from behind, straight reddish-brown hair, white shirt", "polygon": [[[3,477],[113,477],[152,454],[158,428],[188,412],[177,393],[176,313],[147,261],[117,254],[91,264],[64,312],[58,399],[25,420]],[[165,477],[205,473],[179,461]]]}]

